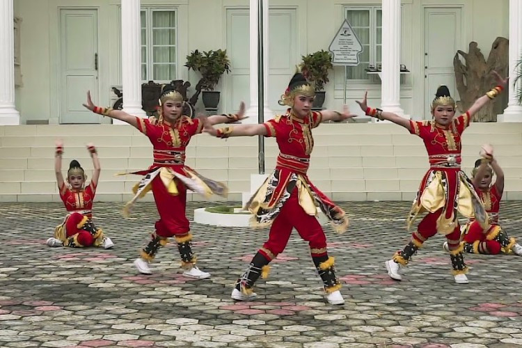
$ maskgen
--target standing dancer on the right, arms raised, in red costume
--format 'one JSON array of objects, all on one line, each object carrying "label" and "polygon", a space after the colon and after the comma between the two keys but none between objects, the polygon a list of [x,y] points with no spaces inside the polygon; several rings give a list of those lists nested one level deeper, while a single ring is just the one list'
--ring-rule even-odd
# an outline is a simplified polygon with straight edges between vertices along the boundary
[{"label": "standing dancer on the right, arms raised, in red costume", "polygon": [[399,274],[400,266],[406,266],[418,248],[438,232],[448,240],[455,282],[468,283],[466,277],[468,267],[462,255],[464,246],[460,241],[457,212],[467,218],[474,216],[483,228],[487,227],[488,217],[473,183],[460,168],[461,134],[470,124],[473,115],[502,92],[507,85],[507,79],[503,79],[496,72],[494,74],[498,86],[475,100],[470,109],[458,117],[454,117],[455,102],[446,86],[441,86],[437,90],[432,102],[433,120],[431,121],[407,120],[395,113],[372,109],[366,104],[367,93],[363,101],[358,102],[366,115],[402,125],[411,134],[420,136],[429,155],[430,168],[422,178],[417,196],[413,200],[408,217],[408,228],[418,214],[423,212],[428,214],[411,235],[411,242],[402,251],[397,251],[391,260],[386,261],[388,275],[395,280],[402,280]]}]

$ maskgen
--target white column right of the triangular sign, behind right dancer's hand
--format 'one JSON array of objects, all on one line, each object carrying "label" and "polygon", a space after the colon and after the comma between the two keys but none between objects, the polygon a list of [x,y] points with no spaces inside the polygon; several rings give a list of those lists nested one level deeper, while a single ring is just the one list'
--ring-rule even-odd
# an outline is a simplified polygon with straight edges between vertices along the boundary
[{"label": "white column right of the triangular sign, behind right dancer's hand", "polygon": [[401,1],[383,0],[381,109],[404,116],[400,106],[400,56]]}]

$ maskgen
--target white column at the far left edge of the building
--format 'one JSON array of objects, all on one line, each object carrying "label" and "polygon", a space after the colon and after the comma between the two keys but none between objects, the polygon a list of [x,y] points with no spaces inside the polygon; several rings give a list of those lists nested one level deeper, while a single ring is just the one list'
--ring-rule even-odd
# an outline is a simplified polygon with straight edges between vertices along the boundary
[{"label": "white column at the far left edge of the building", "polygon": [[19,125],[15,108],[15,31],[13,0],[0,0],[0,125]]}]

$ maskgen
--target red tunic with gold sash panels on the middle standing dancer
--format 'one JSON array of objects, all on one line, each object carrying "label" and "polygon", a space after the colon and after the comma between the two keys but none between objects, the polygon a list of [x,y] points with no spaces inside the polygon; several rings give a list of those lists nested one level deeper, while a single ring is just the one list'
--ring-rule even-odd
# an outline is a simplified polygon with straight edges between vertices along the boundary
[{"label": "red tunic with gold sash panels on the middle standing dancer", "polygon": [[319,191],[306,175],[314,146],[312,129],[319,126],[321,121],[320,112],[312,112],[300,119],[288,109],[285,115],[264,122],[266,136],[276,138],[280,153],[276,169],[246,205],[254,214],[255,225],[271,224],[292,191],[298,189],[299,204],[305,212],[315,214],[315,206],[318,205],[335,230],[346,230],[348,221],[345,212]]}]

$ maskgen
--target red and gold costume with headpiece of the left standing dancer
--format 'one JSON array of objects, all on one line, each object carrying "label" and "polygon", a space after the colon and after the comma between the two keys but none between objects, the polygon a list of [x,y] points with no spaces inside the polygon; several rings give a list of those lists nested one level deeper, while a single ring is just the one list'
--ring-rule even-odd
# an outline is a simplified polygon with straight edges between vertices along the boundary
[{"label": "red and gold costume with headpiece of the left standing dancer", "polygon": [[[182,101],[180,93],[167,91],[160,98],[160,104],[167,100]],[[128,215],[132,204],[152,189],[159,212],[159,220],[155,223],[156,232],[150,243],[141,251],[143,260],[152,261],[160,246],[168,242],[168,237],[175,237],[184,269],[191,269],[196,257],[191,250],[189,220],[185,214],[187,205],[187,189],[200,193],[205,197],[213,193],[227,195],[227,187],[221,182],[207,179],[189,166],[185,166],[185,150],[191,137],[200,134],[203,121],[181,116],[170,123],[159,119],[136,118],[138,129],[145,134],[154,148],[154,162],[145,171],[132,174],[144,175],[134,187],[134,198],[125,206],[124,214]]]}]

